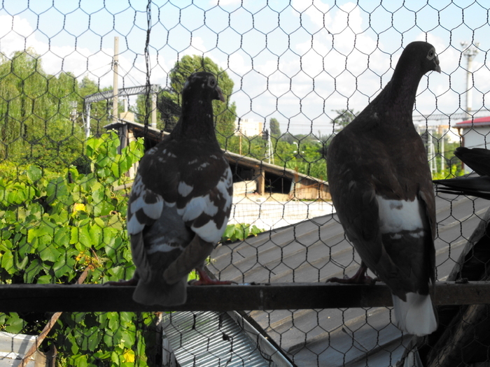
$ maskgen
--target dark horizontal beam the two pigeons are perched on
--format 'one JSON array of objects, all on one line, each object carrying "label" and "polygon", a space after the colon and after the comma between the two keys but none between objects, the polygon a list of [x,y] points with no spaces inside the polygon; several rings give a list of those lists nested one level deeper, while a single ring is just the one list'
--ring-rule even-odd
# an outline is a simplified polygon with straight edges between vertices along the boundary
[{"label": "dark horizontal beam the two pigeons are perched on", "polygon": [[[174,308],[140,305],[134,287],[104,285],[0,285],[0,312],[295,310],[391,306],[384,284],[281,283],[189,286],[188,301]],[[490,303],[490,282],[437,282],[436,305]]]}]

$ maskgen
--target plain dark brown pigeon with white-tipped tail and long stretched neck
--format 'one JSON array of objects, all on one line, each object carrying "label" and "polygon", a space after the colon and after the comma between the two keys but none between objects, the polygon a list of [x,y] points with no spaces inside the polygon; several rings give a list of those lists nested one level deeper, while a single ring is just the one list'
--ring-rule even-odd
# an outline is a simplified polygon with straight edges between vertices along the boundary
[{"label": "plain dark brown pigeon with white-tipped tail and long stretched neck", "polygon": [[435,198],[426,150],[412,121],[416,89],[440,73],[435,48],[412,42],[379,95],[333,139],[327,154],[332,201],[361,258],[353,278],[372,283],[369,268],[392,293],[395,323],[417,336],[437,329]]}]

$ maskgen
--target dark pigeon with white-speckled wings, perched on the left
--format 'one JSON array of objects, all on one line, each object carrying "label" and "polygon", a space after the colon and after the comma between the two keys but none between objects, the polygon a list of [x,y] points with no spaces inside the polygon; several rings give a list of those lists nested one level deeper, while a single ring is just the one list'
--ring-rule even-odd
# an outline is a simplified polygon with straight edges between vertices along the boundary
[{"label": "dark pigeon with white-speckled wings, perched on the left", "polygon": [[228,224],[232,172],[213,122],[212,101],[225,101],[216,76],[193,73],[182,91],[172,133],[141,159],[127,204],[127,232],[136,271],[133,299],[144,305],[186,303],[188,273],[211,280],[204,261]]}]

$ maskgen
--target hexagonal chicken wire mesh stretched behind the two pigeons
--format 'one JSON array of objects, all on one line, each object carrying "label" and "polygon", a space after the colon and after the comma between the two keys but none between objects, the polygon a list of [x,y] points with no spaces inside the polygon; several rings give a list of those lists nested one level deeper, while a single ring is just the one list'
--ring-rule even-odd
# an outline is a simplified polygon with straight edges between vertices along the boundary
[{"label": "hexagonal chicken wire mesh stretched behind the two pigeons", "polygon": [[[176,123],[179,76],[203,67],[219,75],[227,99],[214,108],[234,172],[227,233],[264,231],[218,247],[209,270],[237,282],[353,273],[360,261],[324,181],[332,136],[386,85],[407,43],[428,41],[442,74],[422,78],[414,123],[433,175],[460,174],[454,148],[486,146],[489,134],[488,15],[479,1],[449,0],[4,2],[1,282],[71,283],[86,269],[92,283],[131,275],[122,187],[143,150]],[[486,203],[438,197],[437,210],[437,278],[445,280]],[[38,335],[49,317],[0,321],[6,332]],[[158,338],[173,357],[162,357]],[[99,312],[61,315],[40,350],[76,366],[162,358],[171,366],[175,357],[181,366],[385,366],[408,340],[388,308]]]}]

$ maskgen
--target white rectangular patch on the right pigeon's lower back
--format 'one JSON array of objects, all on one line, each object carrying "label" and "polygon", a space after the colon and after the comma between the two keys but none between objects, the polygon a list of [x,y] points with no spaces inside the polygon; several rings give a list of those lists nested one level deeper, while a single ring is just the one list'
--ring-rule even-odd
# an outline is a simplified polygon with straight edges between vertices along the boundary
[{"label": "white rectangular patch on the right pigeon's lower back", "polygon": [[423,236],[423,223],[420,217],[419,199],[414,201],[389,200],[376,195],[379,207],[379,222],[381,223],[381,233],[393,233],[393,238],[398,236],[396,233],[408,231],[410,236],[419,238]]}]

